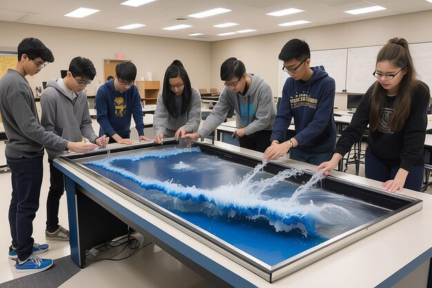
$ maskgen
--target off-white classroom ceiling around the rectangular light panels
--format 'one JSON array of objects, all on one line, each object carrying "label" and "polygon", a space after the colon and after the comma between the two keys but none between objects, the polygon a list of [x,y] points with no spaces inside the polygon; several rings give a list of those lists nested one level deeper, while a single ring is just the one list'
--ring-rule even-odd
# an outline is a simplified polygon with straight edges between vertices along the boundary
[{"label": "off-white classroom ceiling around the rectangular light panels", "polygon": [[[219,41],[432,9],[432,3],[425,0],[157,0],[137,8],[120,5],[123,1],[125,0],[1,0],[0,21],[178,39]],[[349,15],[343,12],[373,5],[384,6],[387,10],[364,15]],[[81,19],[63,17],[66,13],[80,7],[100,11]],[[202,19],[187,16],[213,8],[226,8],[232,11]],[[287,8],[305,11],[282,17],[266,15],[268,12]],[[291,27],[277,26],[279,23],[297,20],[307,20],[311,23]],[[215,24],[226,22],[235,22],[239,25],[228,28],[213,27]],[[116,27],[131,23],[142,23],[146,26],[133,30],[116,29]],[[172,31],[162,30],[162,28],[181,23],[193,27]],[[385,27],[377,27],[377,29],[380,28],[385,29]],[[223,32],[235,32],[244,29],[257,31],[217,36]],[[204,33],[204,35],[188,36],[188,34],[196,32]]]}]

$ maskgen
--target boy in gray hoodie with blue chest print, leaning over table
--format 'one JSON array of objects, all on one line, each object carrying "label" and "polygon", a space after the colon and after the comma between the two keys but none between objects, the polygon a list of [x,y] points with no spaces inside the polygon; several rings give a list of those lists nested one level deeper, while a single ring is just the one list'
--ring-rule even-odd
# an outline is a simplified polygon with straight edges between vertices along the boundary
[{"label": "boy in gray hoodie with blue chest print, leaning over table", "polygon": [[233,137],[239,137],[240,146],[243,148],[264,152],[270,144],[276,116],[270,86],[261,77],[246,73],[243,62],[235,57],[226,59],[222,64],[221,79],[225,88],[213,111],[197,133],[187,134],[185,137],[192,140],[201,137],[201,140],[204,140],[224,122],[228,110],[234,106],[237,130]]}]

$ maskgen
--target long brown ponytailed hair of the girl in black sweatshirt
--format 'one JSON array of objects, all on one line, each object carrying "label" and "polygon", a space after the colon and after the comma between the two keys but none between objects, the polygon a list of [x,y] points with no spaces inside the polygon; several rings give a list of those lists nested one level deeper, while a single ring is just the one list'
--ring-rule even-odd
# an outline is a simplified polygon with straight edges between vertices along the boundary
[{"label": "long brown ponytailed hair of the girl in black sweatshirt", "polygon": [[[399,91],[395,100],[395,106],[389,122],[390,131],[400,131],[404,128],[411,107],[411,91],[417,80],[413,59],[409,52],[409,44],[404,38],[395,37],[387,41],[377,55],[377,63],[389,61],[396,67],[403,69],[406,74],[400,80]],[[380,122],[381,110],[386,102],[386,90],[378,81],[375,82],[371,97],[371,110],[369,111],[369,128],[375,131]]]}]

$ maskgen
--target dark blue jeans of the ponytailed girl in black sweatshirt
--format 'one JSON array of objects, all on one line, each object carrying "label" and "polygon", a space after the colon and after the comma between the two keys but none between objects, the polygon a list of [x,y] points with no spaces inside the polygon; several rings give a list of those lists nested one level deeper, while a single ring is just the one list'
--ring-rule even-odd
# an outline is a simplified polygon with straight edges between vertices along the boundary
[{"label": "dark blue jeans of the ponytailed girl in black sweatshirt", "polygon": [[[364,155],[364,176],[369,179],[386,182],[395,179],[399,167],[392,167],[384,164],[380,158],[376,157],[371,151],[366,150]],[[404,188],[420,191],[422,188],[424,175],[424,165],[412,166],[406,176]]]}]

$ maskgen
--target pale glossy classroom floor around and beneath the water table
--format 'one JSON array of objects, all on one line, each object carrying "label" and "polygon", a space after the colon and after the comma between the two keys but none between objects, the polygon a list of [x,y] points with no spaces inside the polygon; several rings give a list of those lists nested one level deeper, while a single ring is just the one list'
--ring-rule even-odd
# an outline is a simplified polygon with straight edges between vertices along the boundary
[{"label": "pale glossy classroom floor around and beneath the water table", "polygon": [[[95,122],[95,120],[93,120]],[[97,123],[94,123],[97,128]],[[146,131],[146,135],[149,135]],[[0,165],[5,164],[4,143],[0,142]],[[41,201],[39,211],[33,222],[33,237],[36,242],[45,243],[45,221],[46,221],[46,197],[49,186],[49,166],[44,162],[44,177],[41,189]],[[348,173],[354,173],[354,165],[348,166]],[[360,166],[360,175],[364,173]],[[10,203],[10,173],[0,172],[0,184],[3,187],[0,193],[0,247],[3,247],[4,256],[0,257],[0,283],[28,275],[28,273],[16,273],[14,271],[14,261],[7,257],[8,247],[10,246],[10,234],[8,224],[8,206]],[[426,191],[432,194],[432,188]],[[66,207],[66,197],[61,198],[60,224],[68,228],[68,215]],[[57,259],[70,255],[68,242],[50,241],[50,249],[41,254],[42,257]],[[41,272],[43,273],[43,272]],[[139,249],[130,258],[120,261],[88,261],[86,268],[72,276],[60,287],[122,287],[127,280],[128,287],[214,287],[208,280],[202,278],[194,271],[191,271],[181,262],[170,256],[159,247],[149,244]]]}]

